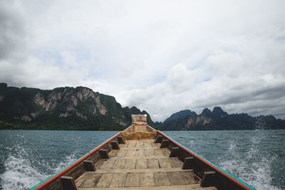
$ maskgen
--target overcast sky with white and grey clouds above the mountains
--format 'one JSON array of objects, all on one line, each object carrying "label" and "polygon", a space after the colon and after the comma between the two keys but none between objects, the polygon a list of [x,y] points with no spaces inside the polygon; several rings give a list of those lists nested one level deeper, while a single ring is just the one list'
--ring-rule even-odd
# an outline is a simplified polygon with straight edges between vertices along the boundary
[{"label": "overcast sky with white and grey clouds above the mountains", "polygon": [[0,2],[0,81],[83,85],[154,120],[285,118],[285,1]]}]

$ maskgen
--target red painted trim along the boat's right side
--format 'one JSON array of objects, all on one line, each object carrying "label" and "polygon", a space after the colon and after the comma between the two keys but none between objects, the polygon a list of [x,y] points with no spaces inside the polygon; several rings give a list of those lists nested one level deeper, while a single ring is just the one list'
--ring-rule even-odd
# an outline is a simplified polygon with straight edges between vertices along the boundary
[{"label": "red painted trim along the boat's right side", "polygon": [[234,184],[237,184],[238,186],[244,188],[244,189],[248,189],[251,190],[248,186],[245,186],[244,184],[242,184],[241,182],[237,181],[237,179],[234,179],[232,176],[229,176],[228,174],[226,174],[224,171],[218,169],[217,167],[214,167],[212,164],[210,164],[209,162],[207,162],[205,159],[203,159],[202,157],[199,157],[197,154],[190,152],[189,149],[186,149],[185,147],[182,147],[179,143],[175,142],[175,140],[173,140],[172,138],[168,137],[167,134],[164,134],[163,132],[161,132],[160,130],[157,130],[157,132],[159,134],[161,134],[163,137],[167,138],[168,140],[170,140],[173,144],[175,144],[177,147],[180,147],[180,149],[183,149],[185,152],[188,152],[189,154],[192,155],[192,157],[195,157],[196,159],[199,159],[199,161],[203,162],[204,164],[206,164],[208,167],[210,167],[211,169],[213,169],[214,171],[217,171],[219,174],[221,174],[222,176],[225,176],[227,179],[229,179],[230,181],[234,182]]}]

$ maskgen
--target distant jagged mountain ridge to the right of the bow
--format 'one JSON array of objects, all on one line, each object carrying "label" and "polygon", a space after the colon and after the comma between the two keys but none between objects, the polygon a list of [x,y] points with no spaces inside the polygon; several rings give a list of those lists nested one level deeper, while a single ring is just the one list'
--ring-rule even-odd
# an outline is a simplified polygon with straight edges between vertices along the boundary
[{"label": "distant jagged mountain ridge to the right of the bow", "polygon": [[168,117],[164,122],[156,122],[163,130],[256,130],[285,129],[285,120],[276,119],[273,115],[252,117],[246,113],[228,114],[221,107],[201,114],[191,110],[182,110]]}]

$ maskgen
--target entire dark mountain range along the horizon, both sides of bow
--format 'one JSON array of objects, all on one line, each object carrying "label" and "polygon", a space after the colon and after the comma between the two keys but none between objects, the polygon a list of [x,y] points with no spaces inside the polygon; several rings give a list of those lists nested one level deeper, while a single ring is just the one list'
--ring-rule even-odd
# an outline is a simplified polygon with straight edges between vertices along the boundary
[{"label": "entire dark mountain range along the horizon, both sides of bow", "polygon": [[115,97],[90,88],[41,90],[0,83],[0,130],[123,130],[132,114],[146,114],[149,125],[160,130],[285,129],[285,120],[272,115],[228,114],[221,107],[205,108],[199,115],[182,110],[164,122],[153,122],[145,110],[122,107]]}]

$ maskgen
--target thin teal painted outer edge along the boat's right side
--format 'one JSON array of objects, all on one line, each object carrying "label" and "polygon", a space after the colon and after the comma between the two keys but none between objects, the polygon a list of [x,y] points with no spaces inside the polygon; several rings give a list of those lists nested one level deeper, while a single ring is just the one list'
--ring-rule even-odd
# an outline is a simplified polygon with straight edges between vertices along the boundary
[{"label": "thin teal painted outer edge along the boat's right side", "polygon": [[[184,149],[187,149],[185,146],[183,146],[182,144],[180,144],[179,142],[175,141],[175,139],[172,139],[171,137],[169,137],[167,134],[165,134],[164,132],[161,132],[160,130],[157,130],[158,132],[160,132],[160,134],[163,134],[165,135],[165,137],[171,139],[173,142],[179,144],[181,147],[183,147]],[[239,179],[237,178],[237,176],[234,176],[233,174],[229,174],[228,171],[225,171],[224,169],[218,167],[216,164],[213,164],[212,162],[209,162],[209,160],[207,159],[204,159],[204,157],[200,156],[199,154],[193,152],[192,150],[190,149],[187,149],[189,152],[191,152],[192,154],[195,154],[197,157],[203,159],[205,162],[207,162],[208,164],[212,165],[212,167],[215,167],[216,169],[224,172],[225,174],[227,174],[228,176],[231,176],[233,179],[239,181],[240,183],[244,184],[244,186],[247,186],[249,189],[252,189],[252,190],[257,190],[257,189],[254,189],[254,187],[250,186],[249,184],[247,184],[246,182],[242,181],[242,179]]]}]

